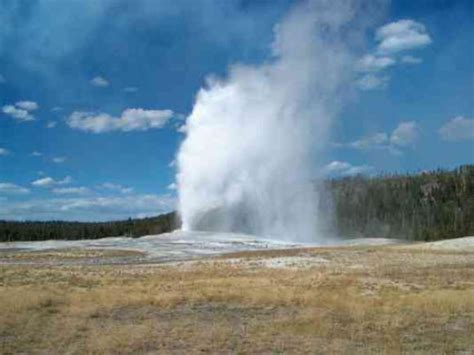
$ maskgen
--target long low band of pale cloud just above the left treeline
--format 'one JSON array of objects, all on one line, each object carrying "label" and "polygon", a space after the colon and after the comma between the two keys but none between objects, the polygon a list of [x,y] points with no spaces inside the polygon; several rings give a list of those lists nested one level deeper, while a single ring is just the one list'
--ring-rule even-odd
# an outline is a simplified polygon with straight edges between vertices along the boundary
[{"label": "long low band of pale cloud just above the left treeline", "polygon": [[108,221],[156,216],[175,205],[175,198],[168,195],[57,197],[0,204],[0,219]]}]

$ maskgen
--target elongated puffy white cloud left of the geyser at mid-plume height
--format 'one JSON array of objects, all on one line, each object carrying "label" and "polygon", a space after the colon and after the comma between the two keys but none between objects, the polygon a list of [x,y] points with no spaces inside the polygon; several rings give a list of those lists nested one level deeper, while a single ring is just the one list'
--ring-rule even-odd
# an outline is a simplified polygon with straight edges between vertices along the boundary
[{"label": "elongated puffy white cloud left of the geyser at mid-plume height", "polygon": [[171,110],[144,110],[128,108],[120,117],[107,113],[73,112],[67,119],[71,128],[85,132],[105,133],[111,131],[146,131],[162,128],[173,117]]}]

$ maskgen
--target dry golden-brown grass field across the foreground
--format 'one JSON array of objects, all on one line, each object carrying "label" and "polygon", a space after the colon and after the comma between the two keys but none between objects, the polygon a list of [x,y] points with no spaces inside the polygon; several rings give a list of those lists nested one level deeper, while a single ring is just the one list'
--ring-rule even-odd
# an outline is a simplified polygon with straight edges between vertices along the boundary
[{"label": "dry golden-brown grass field across the foreground", "polygon": [[[28,260],[1,258],[15,257]],[[311,248],[153,265],[41,259],[0,265],[2,354],[474,353],[472,252]]]}]

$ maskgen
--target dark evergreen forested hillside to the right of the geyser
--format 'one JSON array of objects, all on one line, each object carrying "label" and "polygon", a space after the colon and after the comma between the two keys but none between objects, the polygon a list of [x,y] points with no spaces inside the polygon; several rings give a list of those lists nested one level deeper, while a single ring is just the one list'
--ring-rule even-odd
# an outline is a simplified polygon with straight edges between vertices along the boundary
[{"label": "dark evergreen forested hillside to the right of the geyser", "polygon": [[340,235],[438,240],[474,235],[474,165],[328,182]]}]

